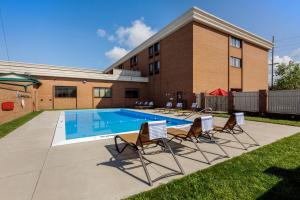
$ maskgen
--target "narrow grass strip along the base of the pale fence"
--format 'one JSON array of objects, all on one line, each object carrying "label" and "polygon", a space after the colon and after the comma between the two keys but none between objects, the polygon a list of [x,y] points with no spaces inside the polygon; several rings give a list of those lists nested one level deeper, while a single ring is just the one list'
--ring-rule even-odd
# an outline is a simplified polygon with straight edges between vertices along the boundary
[{"label": "narrow grass strip along the base of the pale fence", "polygon": [[[228,114],[214,114],[216,117],[225,117],[228,118]],[[284,124],[289,126],[300,126],[300,121],[298,120],[288,120],[288,119],[273,119],[268,117],[254,117],[254,116],[245,116],[246,120],[256,121],[256,122],[266,122],[272,124]]]}]

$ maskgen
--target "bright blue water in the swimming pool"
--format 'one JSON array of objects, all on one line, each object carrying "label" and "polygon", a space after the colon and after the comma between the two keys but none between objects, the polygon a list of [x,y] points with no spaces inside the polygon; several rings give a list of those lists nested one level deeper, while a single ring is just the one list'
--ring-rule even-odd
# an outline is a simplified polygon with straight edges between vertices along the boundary
[{"label": "bright blue water in the swimming pool", "polygon": [[65,111],[66,139],[116,134],[139,130],[147,121],[166,120],[167,126],[190,124],[190,121],[135,112],[126,109]]}]

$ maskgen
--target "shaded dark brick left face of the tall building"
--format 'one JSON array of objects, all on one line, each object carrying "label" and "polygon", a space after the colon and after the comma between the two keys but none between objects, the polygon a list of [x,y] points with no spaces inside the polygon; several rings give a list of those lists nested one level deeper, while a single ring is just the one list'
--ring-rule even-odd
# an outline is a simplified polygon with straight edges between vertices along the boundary
[{"label": "shaded dark brick left face of the tall building", "polygon": [[[160,41],[159,55],[149,58],[148,47],[137,54],[137,68],[143,76],[149,75],[149,64],[159,60],[160,73],[149,76],[147,84],[149,98],[157,106],[162,106],[170,98],[176,101],[177,91],[184,92],[183,98],[191,104],[193,96],[193,30],[192,23],[180,28]],[[152,44],[153,45],[153,44]],[[130,69],[130,60],[123,63],[124,69]],[[166,96],[168,94],[168,96]]]}]

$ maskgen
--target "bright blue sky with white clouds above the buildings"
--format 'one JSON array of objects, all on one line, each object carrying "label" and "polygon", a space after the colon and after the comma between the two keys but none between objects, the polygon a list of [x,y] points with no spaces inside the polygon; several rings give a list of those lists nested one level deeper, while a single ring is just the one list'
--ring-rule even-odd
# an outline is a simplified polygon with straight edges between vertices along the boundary
[{"label": "bright blue sky with white clouds above the buildings", "polygon": [[[278,40],[300,60],[299,0],[0,0],[10,60],[104,69],[192,6]],[[0,29],[0,59],[6,60]]]}]

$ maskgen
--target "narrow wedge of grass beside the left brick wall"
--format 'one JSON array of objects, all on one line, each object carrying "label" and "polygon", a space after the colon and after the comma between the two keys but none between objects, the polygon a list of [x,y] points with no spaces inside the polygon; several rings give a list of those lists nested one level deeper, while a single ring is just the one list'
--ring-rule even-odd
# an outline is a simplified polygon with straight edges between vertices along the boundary
[{"label": "narrow wedge of grass beside the left brick wall", "polygon": [[10,122],[4,123],[0,125],[0,138],[4,137],[5,135],[9,134],[11,131],[15,130],[19,126],[22,126],[32,118],[39,115],[42,111],[32,112],[27,115],[24,115],[23,117],[20,117],[18,119],[14,119]]}]

